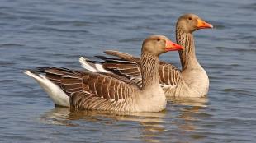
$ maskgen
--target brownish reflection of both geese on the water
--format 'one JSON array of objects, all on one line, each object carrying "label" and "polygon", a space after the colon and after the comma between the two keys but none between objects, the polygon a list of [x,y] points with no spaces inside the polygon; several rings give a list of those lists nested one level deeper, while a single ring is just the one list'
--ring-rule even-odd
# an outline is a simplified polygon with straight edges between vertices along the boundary
[{"label": "brownish reflection of both geese on the water", "polygon": [[[198,127],[194,122],[207,115],[204,113],[204,108],[207,107],[208,99],[175,98],[168,100],[170,101],[168,110],[159,113],[123,113],[55,107],[41,115],[40,122],[67,127],[83,127],[83,130],[88,129],[84,127],[84,121],[115,127],[116,125],[136,126],[132,130],[139,130],[140,140],[146,142],[160,142],[163,138],[173,141],[175,140],[171,137],[173,134],[182,136],[184,132],[197,131]],[[97,127],[95,129],[99,130]],[[127,135],[128,138],[129,136],[134,137]]]}]

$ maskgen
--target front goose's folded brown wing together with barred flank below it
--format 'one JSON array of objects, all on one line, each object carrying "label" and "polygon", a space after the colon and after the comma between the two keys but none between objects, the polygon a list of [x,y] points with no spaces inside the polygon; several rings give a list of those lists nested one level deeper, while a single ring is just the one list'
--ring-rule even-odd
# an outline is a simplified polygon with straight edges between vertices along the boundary
[{"label": "front goose's folded brown wing together with barred flank below it", "polygon": [[[131,104],[131,96],[135,95],[137,90],[132,81],[110,73],[73,71],[56,67],[40,71],[64,90],[73,108],[127,110],[130,108],[128,103]],[[118,104],[120,105],[116,108]]]}]

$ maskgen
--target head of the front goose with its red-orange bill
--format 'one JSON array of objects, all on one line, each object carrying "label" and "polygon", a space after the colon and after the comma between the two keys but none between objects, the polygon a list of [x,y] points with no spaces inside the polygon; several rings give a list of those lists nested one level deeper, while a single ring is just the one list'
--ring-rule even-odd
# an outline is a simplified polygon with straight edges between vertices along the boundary
[{"label": "head of the front goose with its red-orange bill", "polygon": [[184,49],[183,46],[173,43],[164,35],[151,35],[142,44],[142,53],[151,53],[159,56],[161,53]]}]

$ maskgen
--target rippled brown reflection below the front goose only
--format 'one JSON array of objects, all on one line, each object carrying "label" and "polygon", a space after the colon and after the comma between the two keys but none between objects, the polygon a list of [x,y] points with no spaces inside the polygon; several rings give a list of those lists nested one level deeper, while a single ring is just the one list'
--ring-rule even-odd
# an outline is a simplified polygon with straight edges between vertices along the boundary
[{"label": "rippled brown reflection below the front goose only", "polygon": [[40,116],[40,122],[68,127],[80,126],[80,122],[102,122],[106,125],[118,124],[119,121],[138,122],[141,138],[144,141],[159,142],[155,140],[161,132],[166,131],[164,127],[166,111],[159,113],[123,113],[95,110],[73,110],[70,108],[55,107]]}]

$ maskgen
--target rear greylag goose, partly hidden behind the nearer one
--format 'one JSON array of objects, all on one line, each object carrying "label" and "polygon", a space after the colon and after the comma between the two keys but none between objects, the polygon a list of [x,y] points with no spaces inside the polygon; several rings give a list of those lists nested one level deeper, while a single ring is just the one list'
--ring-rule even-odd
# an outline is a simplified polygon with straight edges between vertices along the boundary
[{"label": "rear greylag goose, partly hidden behind the nearer one", "polygon": [[[162,85],[166,96],[170,97],[203,97],[208,93],[209,79],[206,71],[197,62],[194,37],[195,30],[212,28],[213,26],[194,14],[185,14],[178,18],[176,25],[177,43],[185,49],[179,51],[182,71],[171,63],[159,62],[159,84]],[[80,58],[84,68],[90,67],[93,71],[114,72],[126,76],[141,85],[140,58],[118,51],[105,51],[118,58],[102,58],[105,63],[97,63]],[[88,69],[90,70],[90,69]]]}]

